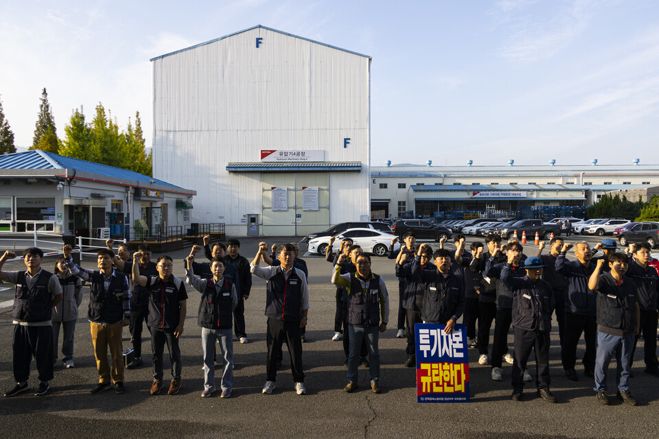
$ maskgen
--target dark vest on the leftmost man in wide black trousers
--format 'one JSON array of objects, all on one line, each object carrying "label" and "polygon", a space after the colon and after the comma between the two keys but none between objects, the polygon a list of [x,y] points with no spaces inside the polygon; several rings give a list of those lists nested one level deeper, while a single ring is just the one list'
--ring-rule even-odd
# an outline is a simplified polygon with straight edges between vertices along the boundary
[{"label": "dark vest on the leftmost man in wide black trousers", "polygon": [[51,292],[48,282],[52,273],[41,270],[32,289],[27,289],[25,272],[16,276],[16,295],[12,318],[21,322],[47,322],[52,316]]}]

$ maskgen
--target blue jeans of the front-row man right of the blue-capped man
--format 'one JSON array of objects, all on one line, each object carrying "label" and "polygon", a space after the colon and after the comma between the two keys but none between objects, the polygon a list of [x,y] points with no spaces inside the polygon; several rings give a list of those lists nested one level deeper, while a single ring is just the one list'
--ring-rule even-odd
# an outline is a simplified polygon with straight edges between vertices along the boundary
[{"label": "blue jeans of the front-row man right of the blue-capped man", "polygon": [[634,334],[609,335],[597,331],[597,354],[595,357],[594,391],[606,390],[606,372],[611,357],[616,355],[616,384],[618,391],[629,390],[629,358],[634,348]]}]

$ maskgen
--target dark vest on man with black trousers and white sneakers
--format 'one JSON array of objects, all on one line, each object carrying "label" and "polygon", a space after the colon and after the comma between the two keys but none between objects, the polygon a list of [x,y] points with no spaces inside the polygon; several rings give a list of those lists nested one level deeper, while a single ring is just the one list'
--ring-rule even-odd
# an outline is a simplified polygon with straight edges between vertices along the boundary
[{"label": "dark vest on man with black trousers and white sneakers", "polygon": [[300,320],[302,310],[302,279],[297,269],[290,270],[286,279],[284,271],[268,279],[266,285],[266,316],[292,322]]}]

